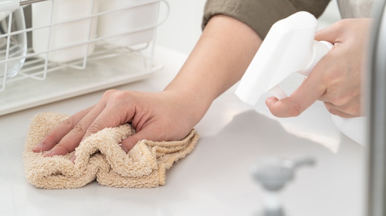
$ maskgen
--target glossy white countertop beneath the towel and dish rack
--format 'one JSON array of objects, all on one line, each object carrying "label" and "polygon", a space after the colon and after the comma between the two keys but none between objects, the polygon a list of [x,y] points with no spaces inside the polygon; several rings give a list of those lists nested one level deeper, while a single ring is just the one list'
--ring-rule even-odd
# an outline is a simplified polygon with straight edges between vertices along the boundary
[{"label": "glossy white countertop beneath the towel and dish rack", "polygon": [[[186,55],[156,47],[164,69],[116,89],[160,91]],[[264,100],[251,107],[235,86],[216,99],[196,125],[195,149],[166,172],[158,188],[109,188],[92,182],[82,188],[48,190],[25,180],[22,151],[34,114],[73,114],[95,104],[104,91],[0,116],[0,215],[253,215],[262,208],[263,189],[248,168],[265,157],[313,156],[281,193],[289,216],[361,216],[365,201],[366,148],[342,135],[322,103],[296,118],[276,118]],[[1,97],[1,95],[0,95]]]}]

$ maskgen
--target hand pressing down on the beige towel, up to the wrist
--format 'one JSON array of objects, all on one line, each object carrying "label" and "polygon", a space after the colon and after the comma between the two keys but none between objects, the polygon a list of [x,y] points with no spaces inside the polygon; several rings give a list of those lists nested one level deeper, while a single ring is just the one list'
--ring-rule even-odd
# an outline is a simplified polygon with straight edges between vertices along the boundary
[{"label": "hand pressing down on the beige towel, up to the wrist", "polygon": [[55,126],[33,151],[47,151],[44,156],[65,155],[91,134],[126,122],[131,122],[137,132],[121,142],[126,152],[143,139],[182,140],[200,119],[197,119],[198,108],[189,100],[188,95],[170,90],[159,93],[109,90],[95,106]]}]

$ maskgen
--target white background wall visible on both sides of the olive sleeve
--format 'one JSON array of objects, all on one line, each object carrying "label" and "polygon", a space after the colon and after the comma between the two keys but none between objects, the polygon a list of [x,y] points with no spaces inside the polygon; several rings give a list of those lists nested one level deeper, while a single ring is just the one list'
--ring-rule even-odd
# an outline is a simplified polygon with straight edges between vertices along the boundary
[{"label": "white background wall visible on both sides of the olive sleeve", "polygon": [[[167,0],[170,4],[168,20],[158,28],[157,44],[189,54],[201,35],[201,21],[206,0]],[[160,19],[166,13],[161,5]],[[319,19],[319,29],[338,21],[336,0],[332,0]]]}]

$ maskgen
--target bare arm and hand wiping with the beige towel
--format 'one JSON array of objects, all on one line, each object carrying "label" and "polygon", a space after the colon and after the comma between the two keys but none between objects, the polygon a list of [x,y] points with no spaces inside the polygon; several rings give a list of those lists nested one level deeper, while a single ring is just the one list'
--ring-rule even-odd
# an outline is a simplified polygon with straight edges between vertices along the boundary
[{"label": "bare arm and hand wiping with the beige towel", "polygon": [[126,122],[133,124],[137,134],[122,141],[125,151],[142,139],[181,140],[201,120],[212,101],[241,78],[260,44],[260,37],[247,25],[216,15],[164,91],[109,90],[95,106],[53,128],[34,152],[64,155],[91,134]]}]

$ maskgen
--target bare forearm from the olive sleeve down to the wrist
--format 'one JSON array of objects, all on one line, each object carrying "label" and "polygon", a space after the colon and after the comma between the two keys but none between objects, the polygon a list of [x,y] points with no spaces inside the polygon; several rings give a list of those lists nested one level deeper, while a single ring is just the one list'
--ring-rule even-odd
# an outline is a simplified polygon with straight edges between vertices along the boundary
[{"label": "bare forearm from the olive sleeve down to the wrist", "polygon": [[208,107],[240,80],[261,42],[244,23],[216,15],[210,19],[184,66],[165,90],[177,90]]}]

